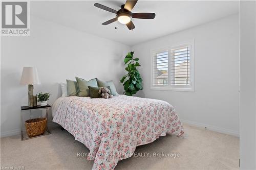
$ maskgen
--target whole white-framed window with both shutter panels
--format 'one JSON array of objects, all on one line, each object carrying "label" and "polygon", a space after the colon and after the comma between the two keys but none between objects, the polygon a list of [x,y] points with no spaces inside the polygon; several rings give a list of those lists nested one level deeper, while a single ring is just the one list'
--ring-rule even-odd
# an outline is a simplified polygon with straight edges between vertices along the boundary
[{"label": "whole white-framed window with both shutter panels", "polygon": [[152,51],[153,90],[194,91],[193,43]]}]

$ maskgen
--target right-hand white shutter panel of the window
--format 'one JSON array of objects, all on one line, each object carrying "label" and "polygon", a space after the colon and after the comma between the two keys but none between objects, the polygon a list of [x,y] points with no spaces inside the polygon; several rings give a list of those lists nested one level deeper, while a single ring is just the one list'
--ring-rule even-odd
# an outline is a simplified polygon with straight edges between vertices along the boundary
[{"label": "right-hand white shutter panel of the window", "polygon": [[173,48],[170,52],[170,85],[190,85],[190,45]]}]

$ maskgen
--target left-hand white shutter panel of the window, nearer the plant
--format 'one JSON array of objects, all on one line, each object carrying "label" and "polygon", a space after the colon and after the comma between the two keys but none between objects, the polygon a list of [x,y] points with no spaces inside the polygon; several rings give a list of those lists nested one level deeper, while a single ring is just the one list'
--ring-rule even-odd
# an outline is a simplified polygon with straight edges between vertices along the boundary
[{"label": "left-hand white shutter panel of the window, nearer the plant", "polygon": [[168,75],[168,51],[153,54],[153,86],[167,86]]}]

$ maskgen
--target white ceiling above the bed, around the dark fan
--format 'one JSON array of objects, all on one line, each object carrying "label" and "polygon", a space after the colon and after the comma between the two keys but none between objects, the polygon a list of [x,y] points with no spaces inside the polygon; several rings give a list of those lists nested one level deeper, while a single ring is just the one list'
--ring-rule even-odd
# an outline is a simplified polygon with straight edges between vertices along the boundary
[{"label": "white ceiling above the bed, around the dark fan", "polygon": [[118,21],[101,25],[115,14],[94,7],[94,3],[119,10],[125,1],[32,1],[31,15],[134,45],[239,12],[238,1],[138,1],[132,12],[154,12],[156,17],[133,19],[136,28],[130,31]]}]

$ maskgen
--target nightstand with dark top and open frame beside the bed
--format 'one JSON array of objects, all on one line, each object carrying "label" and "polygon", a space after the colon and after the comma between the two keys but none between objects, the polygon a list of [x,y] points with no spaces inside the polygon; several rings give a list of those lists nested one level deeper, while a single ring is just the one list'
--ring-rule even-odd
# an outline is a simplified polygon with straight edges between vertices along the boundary
[{"label": "nightstand with dark top and open frame beside the bed", "polygon": [[51,109],[51,106],[50,105],[47,105],[47,106],[40,106],[40,105],[37,105],[36,107],[28,107],[28,106],[22,106],[20,107],[20,138],[22,140],[26,140],[26,139],[32,139],[32,138],[35,138],[35,137],[39,137],[39,136],[45,136],[45,135],[49,135],[51,134],[51,132],[48,130],[48,127],[46,125],[46,132],[42,135],[39,135],[39,136],[35,136],[35,137],[26,137],[24,138],[23,136],[23,112],[24,111],[35,111],[35,110],[46,110],[46,118],[48,119],[48,112],[49,110]]}]

